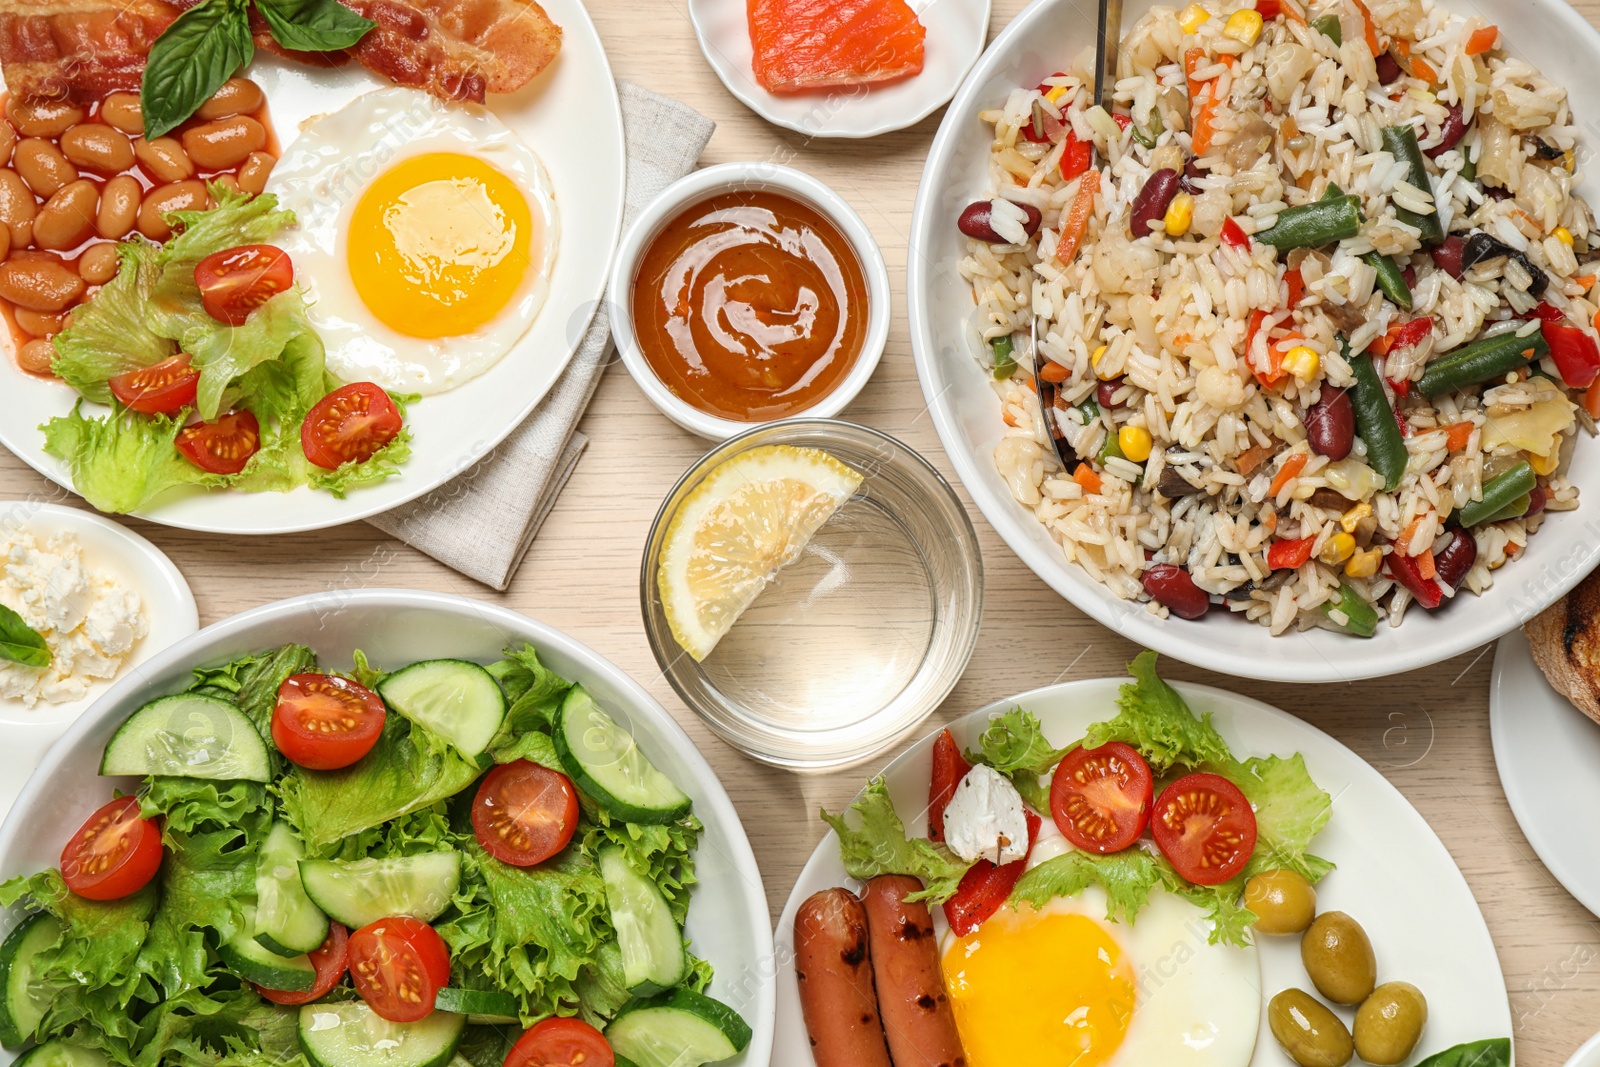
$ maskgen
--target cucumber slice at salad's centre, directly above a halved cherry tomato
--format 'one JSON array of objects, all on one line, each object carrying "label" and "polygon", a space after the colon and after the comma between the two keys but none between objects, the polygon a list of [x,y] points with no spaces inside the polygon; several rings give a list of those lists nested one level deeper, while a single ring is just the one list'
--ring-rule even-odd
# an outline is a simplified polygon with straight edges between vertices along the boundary
[{"label": "cucumber slice at salad's centre, directly above a halved cherry tomato", "polygon": [[461,885],[461,853],[390,859],[302,859],[301,885],[312,902],[352,931],[390,915],[430,923]]}]

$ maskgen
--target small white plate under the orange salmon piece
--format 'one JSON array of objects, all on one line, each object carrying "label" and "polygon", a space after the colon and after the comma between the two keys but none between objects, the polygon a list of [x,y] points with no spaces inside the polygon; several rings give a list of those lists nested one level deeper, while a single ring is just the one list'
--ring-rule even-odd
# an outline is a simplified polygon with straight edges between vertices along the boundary
[{"label": "small white plate under the orange salmon piece", "polygon": [[875,138],[944,106],[984,50],[989,0],[909,0],[926,27],[922,74],[878,88],[768,93],[755,80],[744,0],[690,0],[701,53],[728,91],[766,122],[811,138]]}]

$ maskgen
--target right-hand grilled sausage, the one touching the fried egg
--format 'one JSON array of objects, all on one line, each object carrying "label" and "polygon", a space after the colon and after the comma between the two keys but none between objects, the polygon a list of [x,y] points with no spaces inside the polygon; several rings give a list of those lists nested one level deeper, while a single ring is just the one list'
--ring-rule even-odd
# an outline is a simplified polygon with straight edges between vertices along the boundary
[{"label": "right-hand grilled sausage, the one touching the fried egg", "polygon": [[894,1067],[966,1067],[955,1014],[944,993],[939,945],[926,904],[906,904],[922,883],[906,875],[880,875],[867,883],[872,981],[883,1013]]}]

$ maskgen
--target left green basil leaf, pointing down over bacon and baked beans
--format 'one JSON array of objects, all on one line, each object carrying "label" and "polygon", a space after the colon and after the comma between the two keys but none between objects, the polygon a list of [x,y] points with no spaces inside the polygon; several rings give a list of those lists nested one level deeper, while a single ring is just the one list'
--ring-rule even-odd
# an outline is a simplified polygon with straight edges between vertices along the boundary
[{"label": "left green basil leaf, pointing down over bacon and baked beans", "polygon": [[248,0],[205,0],[168,26],[144,64],[144,136],[184,122],[256,54]]}]

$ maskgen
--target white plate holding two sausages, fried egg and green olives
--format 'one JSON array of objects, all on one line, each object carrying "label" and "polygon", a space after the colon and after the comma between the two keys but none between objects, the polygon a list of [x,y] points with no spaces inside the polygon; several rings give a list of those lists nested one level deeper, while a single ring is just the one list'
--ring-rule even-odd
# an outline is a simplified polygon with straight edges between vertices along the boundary
[{"label": "white plate holding two sausages, fried egg and green olives", "polygon": [[[1034,689],[997,701],[950,725],[965,749],[978,747],[989,718],[1022,705],[1038,715],[1054,744],[1083,736],[1090,723],[1117,713],[1122,678],[1094,678]],[[1306,757],[1317,784],[1333,795],[1333,819],[1312,851],[1338,864],[1317,886],[1318,910],[1342,910],[1371,936],[1378,979],[1403,979],[1427,997],[1427,1029],[1413,1059],[1461,1041],[1510,1037],[1510,1003],[1494,944],[1456,862],[1422,816],[1365,760],[1293,715],[1210,686],[1176,683],[1197,713],[1210,712],[1240,758]],[[933,739],[923,737],[883,769],[896,809],[915,824],[926,809]],[[829,830],[800,872],[778,920],[778,958],[789,961],[778,984],[778,1040],[773,1067],[811,1067],[800,990],[794,977],[794,917],[818,889],[856,883],[838,859],[838,837]],[[942,917],[934,921],[944,925]],[[1261,937],[1261,997],[1290,985],[1309,987],[1299,939]],[[1350,1013],[1341,1011],[1349,1024]],[[1253,1067],[1293,1067],[1261,1021]]]}]

